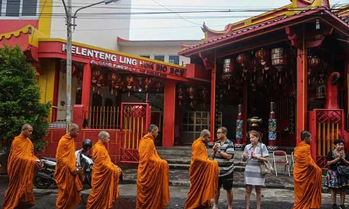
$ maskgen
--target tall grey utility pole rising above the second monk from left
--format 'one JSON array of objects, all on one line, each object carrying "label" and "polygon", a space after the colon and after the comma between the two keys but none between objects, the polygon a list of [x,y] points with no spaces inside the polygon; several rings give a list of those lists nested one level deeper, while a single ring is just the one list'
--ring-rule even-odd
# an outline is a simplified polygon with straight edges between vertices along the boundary
[{"label": "tall grey utility pole rising above the second monk from left", "polygon": [[66,129],[71,123],[71,51],[72,51],[72,30],[71,30],[71,0],[66,6],[66,26],[67,26],[67,52],[66,52]]}]

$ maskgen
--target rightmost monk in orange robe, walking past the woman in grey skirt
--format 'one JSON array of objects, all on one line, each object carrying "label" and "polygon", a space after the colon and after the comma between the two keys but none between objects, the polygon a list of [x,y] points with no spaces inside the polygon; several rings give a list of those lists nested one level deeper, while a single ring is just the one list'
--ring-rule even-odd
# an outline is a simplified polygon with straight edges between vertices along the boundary
[{"label": "rightmost monk in orange robe, walking past the woman in grey skirt", "polygon": [[295,149],[295,205],[292,209],[320,208],[322,171],[311,157],[311,133],[301,132],[302,142]]}]

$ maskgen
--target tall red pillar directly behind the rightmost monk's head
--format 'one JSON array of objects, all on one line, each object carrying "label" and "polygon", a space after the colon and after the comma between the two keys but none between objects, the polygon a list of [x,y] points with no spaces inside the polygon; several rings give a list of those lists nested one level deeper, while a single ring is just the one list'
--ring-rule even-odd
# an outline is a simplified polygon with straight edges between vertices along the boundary
[{"label": "tall red pillar directly behind the rightmost monk's head", "polygon": [[[297,145],[301,142],[300,134],[306,130],[308,108],[307,108],[307,81],[308,81],[308,56],[303,40],[302,49],[297,49],[297,107],[296,107],[296,130]],[[315,140],[315,139],[314,139]]]}]

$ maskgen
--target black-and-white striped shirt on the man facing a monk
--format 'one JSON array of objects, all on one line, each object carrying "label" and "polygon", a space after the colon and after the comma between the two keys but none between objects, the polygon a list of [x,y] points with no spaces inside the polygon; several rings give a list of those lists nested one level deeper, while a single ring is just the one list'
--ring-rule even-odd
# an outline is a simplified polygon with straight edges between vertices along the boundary
[{"label": "black-and-white striped shirt on the man facing a monk", "polygon": [[232,143],[232,141],[230,141],[229,139],[225,139],[224,144],[221,144],[221,140],[216,141],[216,144],[218,146],[221,146],[221,152],[227,153],[228,155],[232,155],[232,158],[230,158],[230,160],[226,159],[225,157],[222,157],[218,154],[218,152],[216,153],[216,155],[214,155],[214,160],[218,162],[219,167],[218,176],[227,176],[228,174],[232,173],[232,171],[234,171],[234,143]]}]

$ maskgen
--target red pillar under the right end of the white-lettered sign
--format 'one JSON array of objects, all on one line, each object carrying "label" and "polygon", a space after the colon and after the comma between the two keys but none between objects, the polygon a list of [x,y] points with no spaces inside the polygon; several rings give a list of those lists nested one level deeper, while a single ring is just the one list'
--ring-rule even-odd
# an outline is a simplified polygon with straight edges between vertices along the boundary
[{"label": "red pillar under the right end of the white-lettered sign", "polygon": [[176,82],[166,80],[163,95],[163,146],[172,147],[174,142]]}]

